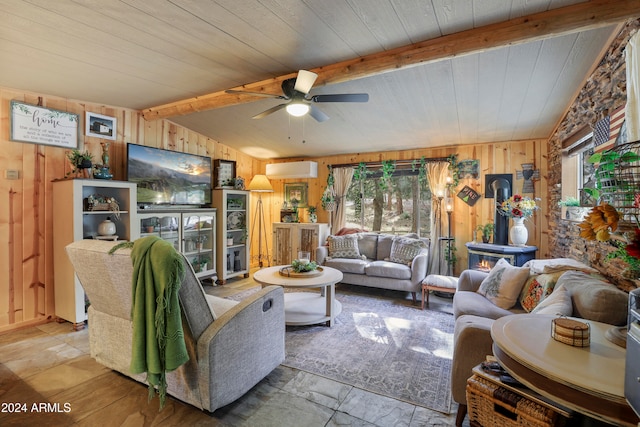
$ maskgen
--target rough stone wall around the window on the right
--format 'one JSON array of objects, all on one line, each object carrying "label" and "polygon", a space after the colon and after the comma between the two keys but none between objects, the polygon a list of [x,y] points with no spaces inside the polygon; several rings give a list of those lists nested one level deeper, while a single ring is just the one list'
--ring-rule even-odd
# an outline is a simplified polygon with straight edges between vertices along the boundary
[{"label": "rough stone wall around the window on the right", "polygon": [[626,67],[624,49],[629,38],[640,28],[640,19],[628,21],[612,42],[609,50],[589,77],[575,102],[569,108],[556,133],[549,140],[549,247],[552,257],[568,257],[600,270],[620,288],[639,286],[638,281],[623,277],[626,264],[606,260],[615,248],[610,243],[587,241],[579,236],[576,222],[561,218],[558,202],[562,198],[562,141],[576,131],[606,117],[609,111],[626,103]]}]

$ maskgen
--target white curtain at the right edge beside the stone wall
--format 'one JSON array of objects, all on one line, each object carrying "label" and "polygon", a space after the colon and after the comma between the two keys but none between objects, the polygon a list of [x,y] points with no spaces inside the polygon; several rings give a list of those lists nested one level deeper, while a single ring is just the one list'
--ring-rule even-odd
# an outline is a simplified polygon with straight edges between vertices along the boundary
[{"label": "white curtain at the right edge beside the stone wall", "polygon": [[625,47],[627,66],[627,142],[640,139],[640,31]]}]

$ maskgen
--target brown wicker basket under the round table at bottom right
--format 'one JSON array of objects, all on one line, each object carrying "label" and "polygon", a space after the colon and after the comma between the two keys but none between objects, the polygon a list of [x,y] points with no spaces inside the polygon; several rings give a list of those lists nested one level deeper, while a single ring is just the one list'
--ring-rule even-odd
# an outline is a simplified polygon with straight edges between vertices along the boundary
[{"label": "brown wicker basket under the round table at bottom right", "polygon": [[564,424],[564,417],[553,409],[477,375],[467,380],[467,405],[471,425],[551,427]]}]

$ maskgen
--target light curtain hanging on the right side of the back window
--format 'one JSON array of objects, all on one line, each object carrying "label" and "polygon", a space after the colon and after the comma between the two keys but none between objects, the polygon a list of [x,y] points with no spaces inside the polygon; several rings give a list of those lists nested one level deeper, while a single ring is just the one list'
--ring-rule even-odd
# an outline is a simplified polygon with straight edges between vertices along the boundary
[{"label": "light curtain hanging on the right side of the back window", "polygon": [[431,190],[431,242],[429,246],[429,274],[446,274],[447,261],[440,238],[447,230],[447,215],[443,215],[449,162],[433,162],[425,165]]}]

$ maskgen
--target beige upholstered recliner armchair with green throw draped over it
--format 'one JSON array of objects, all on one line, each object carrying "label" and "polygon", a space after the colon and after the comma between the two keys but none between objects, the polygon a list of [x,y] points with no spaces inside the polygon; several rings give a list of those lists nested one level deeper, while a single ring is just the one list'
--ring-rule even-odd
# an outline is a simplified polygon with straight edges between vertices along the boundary
[{"label": "beige upholstered recliner armchair with green throw draped over it", "polygon": [[[91,303],[91,357],[146,384],[146,374],[129,370],[131,250],[109,255],[115,244],[81,240],[66,249]],[[189,263],[184,263],[179,298],[189,361],[167,373],[167,393],[213,412],[241,397],[284,361],[284,294],[271,286],[241,302],[206,295]]]}]

